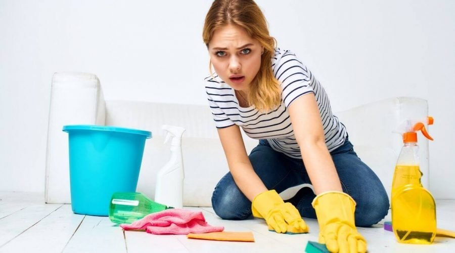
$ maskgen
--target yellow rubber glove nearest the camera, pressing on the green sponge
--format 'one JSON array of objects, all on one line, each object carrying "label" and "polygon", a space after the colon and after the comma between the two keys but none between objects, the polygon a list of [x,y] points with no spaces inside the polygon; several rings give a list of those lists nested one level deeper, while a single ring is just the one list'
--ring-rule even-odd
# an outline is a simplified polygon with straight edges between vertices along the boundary
[{"label": "yellow rubber glove nearest the camera, pressing on the green sponge", "polygon": [[319,243],[331,252],[366,252],[367,241],[355,228],[355,201],[339,191],[317,195],[312,205],[319,223]]}]

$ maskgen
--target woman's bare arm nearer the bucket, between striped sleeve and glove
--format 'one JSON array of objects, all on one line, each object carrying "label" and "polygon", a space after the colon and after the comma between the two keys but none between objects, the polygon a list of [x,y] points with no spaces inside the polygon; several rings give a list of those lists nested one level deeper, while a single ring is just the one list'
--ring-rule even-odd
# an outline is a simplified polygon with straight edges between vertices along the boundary
[{"label": "woman's bare arm nearer the bucket, between striped sleeve and glove", "polygon": [[255,196],[267,191],[267,188],[253,170],[239,126],[218,129],[218,135],[234,181],[243,194],[253,201]]}]

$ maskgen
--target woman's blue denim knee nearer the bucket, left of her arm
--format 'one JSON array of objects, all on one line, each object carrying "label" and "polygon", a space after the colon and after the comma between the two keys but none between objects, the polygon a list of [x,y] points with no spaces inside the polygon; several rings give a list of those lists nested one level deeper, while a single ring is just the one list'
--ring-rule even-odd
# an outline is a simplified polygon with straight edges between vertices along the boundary
[{"label": "woman's blue denim knee nearer the bucket, left of her arm", "polygon": [[[221,183],[221,181],[220,181]],[[212,207],[215,214],[223,220],[244,220],[251,215],[251,202],[237,185],[220,184],[212,194]]]}]

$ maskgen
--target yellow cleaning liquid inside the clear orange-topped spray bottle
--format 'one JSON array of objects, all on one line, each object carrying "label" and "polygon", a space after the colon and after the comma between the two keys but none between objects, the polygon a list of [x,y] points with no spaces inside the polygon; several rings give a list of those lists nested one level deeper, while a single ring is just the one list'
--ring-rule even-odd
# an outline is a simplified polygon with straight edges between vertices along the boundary
[{"label": "yellow cleaning liquid inside the clear orange-topped spray bottle", "polygon": [[430,244],[436,236],[436,205],[422,187],[418,165],[396,165],[392,182],[392,227],[401,243]]}]

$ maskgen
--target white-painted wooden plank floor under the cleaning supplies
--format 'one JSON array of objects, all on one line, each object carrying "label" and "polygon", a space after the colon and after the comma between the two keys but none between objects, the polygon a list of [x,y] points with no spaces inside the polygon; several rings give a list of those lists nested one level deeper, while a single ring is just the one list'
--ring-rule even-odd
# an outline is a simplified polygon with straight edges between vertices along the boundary
[{"label": "white-painted wooden plank floor under the cleaning supplies", "polygon": [[[44,204],[41,195],[0,192],[0,252],[304,252],[307,241],[317,241],[319,232],[313,219],[305,219],[308,234],[277,234],[269,232],[259,219],[221,220],[209,207],[188,208],[202,210],[210,225],[224,226],[225,231],[253,232],[255,242],[123,232],[108,217],[76,215],[69,204]],[[439,228],[455,230],[455,200],[437,201],[437,219]],[[451,238],[437,237],[432,245],[408,245],[397,243],[382,225],[358,230],[366,237],[369,252],[455,252],[455,239]]]}]

